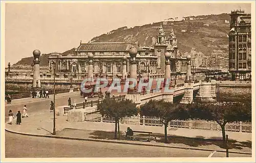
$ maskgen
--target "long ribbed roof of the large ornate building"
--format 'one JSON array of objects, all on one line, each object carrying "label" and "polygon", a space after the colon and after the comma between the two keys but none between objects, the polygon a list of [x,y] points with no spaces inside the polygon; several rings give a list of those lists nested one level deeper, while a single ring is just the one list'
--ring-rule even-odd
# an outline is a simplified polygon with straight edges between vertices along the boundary
[{"label": "long ribbed roof of the large ornate building", "polygon": [[93,42],[81,43],[78,47],[78,52],[99,52],[99,51],[129,51],[131,46],[134,46],[137,51],[140,51],[138,45],[129,42]]}]

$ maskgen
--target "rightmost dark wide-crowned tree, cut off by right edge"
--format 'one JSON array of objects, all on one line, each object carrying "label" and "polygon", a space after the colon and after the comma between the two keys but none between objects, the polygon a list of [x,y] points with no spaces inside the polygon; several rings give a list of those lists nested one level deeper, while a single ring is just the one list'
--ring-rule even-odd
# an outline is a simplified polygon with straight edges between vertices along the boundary
[{"label": "rightmost dark wide-crowned tree, cut off by right edge", "polygon": [[216,121],[221,126],[223,141],[226,141],[227,123],[251,121],[251,103],[197,104],[189,109],[189,113],[193,118]]}]

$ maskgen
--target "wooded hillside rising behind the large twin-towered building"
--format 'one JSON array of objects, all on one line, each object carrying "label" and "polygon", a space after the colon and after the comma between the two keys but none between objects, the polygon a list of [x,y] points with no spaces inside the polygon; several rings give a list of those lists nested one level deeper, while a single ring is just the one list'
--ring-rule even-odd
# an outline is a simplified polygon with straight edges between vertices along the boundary
[{"label": "wooded hillside rising behind the large twin-towered building", "polygon": [[[229,23],[225,20],[230,20],[228,14],[219,15],[199,15],[187,16],[186,20],[181,21],[165,21],[163,29],[166,36],[173,29],[178,38],[178,50],[181,54],[199,54],[197,56],[209,56],[214,51],[223,51],[228,53],[228,38]],[[188,20],[194,19],[194,20]],[[169,18],[167,20],[172,20]],[[144,26],[136,26],[133,28],[120,27],[106,34],[94,37],[91,42],[136,42],[141,46],[154,46],[156,42],[156,34],[158,27],[163,22],[155,22]],[[181,32],[182,30],[186,32]],[[68,49],[67,49],[68,50]],[[48,56],[40,57],[40,66],[48,66]],[[13,68],[31,68],[33,57],[23,58]]]}]

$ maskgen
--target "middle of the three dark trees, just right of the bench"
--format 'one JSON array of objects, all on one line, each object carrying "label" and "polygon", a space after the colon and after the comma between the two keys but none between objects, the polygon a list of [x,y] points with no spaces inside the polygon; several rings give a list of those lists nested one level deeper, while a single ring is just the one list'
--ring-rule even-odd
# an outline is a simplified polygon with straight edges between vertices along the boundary
[{"label": "middle of the three dark trees, just right of the bench", "polygon": [[143,115],[160,118],[164,125],[164,142],[168,143],[167,126],[172,120],[188,119],[189,115],[185,104],[174,104],[170,102],[150,100],[141,106]]}]

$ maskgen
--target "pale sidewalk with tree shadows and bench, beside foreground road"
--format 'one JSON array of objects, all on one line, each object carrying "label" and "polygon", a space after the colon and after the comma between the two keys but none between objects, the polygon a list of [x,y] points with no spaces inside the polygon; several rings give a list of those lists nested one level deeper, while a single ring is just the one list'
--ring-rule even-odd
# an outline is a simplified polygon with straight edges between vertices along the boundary
[{"label": "pale sidewalk with tree shadows and bench, beside foreground road", "polygon": [[[42,112],[41,114],[23,118],[21,125],[6,124],[6,130],[16,133],[35,134],[50,137],[53,131],[53,113]],[[124,139],[127,127],[139,131],[151,131],[157,137],[157,141],[140,142],[126,141]],[[80,139],[87,141],[100,141],[109,143],[134,144],[145,146],[161,146],[169,148],[185,148],[208,151],[225,151],[221,148],[222,132],[186,129],[186,128],[167,128],[169,144],[162,143],[164,127],[127,125],[120,124],[121,139],[114,137],[115,124],[103,122],[69,122],[67,116],[56,115],[56,136],[57,138]],[[229,152],[251,153],[251,133],[226,132],[230,140]]]}]

